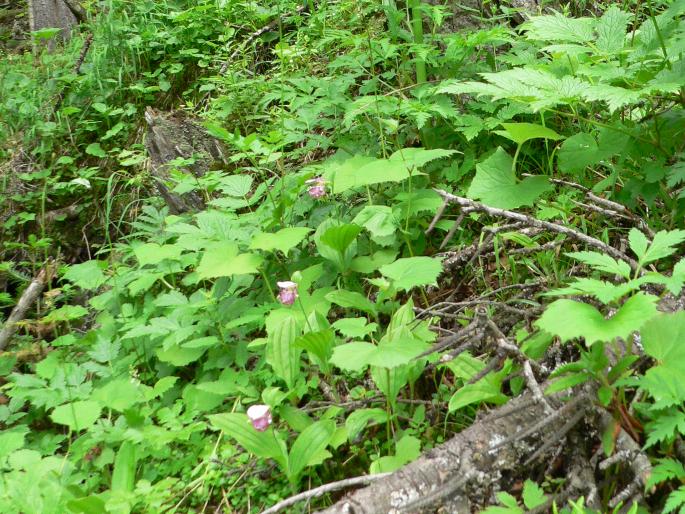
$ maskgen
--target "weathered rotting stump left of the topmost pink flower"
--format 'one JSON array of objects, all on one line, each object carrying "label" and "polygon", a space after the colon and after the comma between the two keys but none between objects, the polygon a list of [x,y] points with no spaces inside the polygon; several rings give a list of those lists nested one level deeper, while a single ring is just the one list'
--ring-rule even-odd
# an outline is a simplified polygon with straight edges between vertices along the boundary
[{"label": "weathered rotting stump left of the topmost pink flower", "polygon": [[147,136],[145,147],[150,156],[151,171],[157,188],[171,212],[178,214],[204,209],[205,202],[196,192],[178,195],[169,190],[169,163],[174,159],[195,162],[183,171],[202,177],[215,161],[224,160],[222,145],[210,136],[195,120],[181,111],[160,112],[150,107],[145,111]]}]

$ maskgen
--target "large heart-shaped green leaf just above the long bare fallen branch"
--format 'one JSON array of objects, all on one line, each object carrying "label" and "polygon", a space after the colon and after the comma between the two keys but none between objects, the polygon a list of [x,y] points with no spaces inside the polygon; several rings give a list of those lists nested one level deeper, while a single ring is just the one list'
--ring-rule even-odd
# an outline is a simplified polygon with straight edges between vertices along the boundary
[{"label": "large heart-shaped green leaf just above the long bare fallen branch", "polygon": [[512,169],[512,158],[502,149],[476,165],[476,176],[468,196],[500,209],[515,209],[533,205],[546,191],[552,189],[547,177],[526,177],[519,181]]}]

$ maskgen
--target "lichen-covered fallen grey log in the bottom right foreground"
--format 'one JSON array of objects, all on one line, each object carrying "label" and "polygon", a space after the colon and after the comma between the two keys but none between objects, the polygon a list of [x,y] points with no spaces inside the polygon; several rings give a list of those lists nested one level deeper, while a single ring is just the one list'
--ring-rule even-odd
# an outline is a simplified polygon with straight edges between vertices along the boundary
[{"label": "lichen-covered fallen grey log in the bottom right foreground", "polygon": [[[591,464],[596,441],[579,436],[577,427],[583,426],[583,434],[588,429],[601,433],[607,415],[592,406],[589,396],[576,397],[564,407],[556,405],[550,410],[546,402],[525,392],[418,460],[319,514],[479,512],[491,504],[495,492],[513,489],[517,481],[534,476],[538,468],[544,472],[555,461],[564,467],[566,477],[564,494],[558,499],[585,495],[591,505],[590,496],[597,491]],[[626,483],[644,485],[649,461],[640,454],[639,445],[621,431],[619,449],[636,455]]]}]

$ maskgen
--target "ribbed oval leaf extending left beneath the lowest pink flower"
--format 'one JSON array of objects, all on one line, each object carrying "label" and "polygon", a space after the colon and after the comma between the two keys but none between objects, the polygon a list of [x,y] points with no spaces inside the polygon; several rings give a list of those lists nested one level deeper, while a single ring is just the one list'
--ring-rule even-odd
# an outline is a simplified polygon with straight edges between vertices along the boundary
[{"label": "ribbed oval leaf extending left beneath the lowest pink flower", "polygon": [[276,441],[272,427],[264,432],[258,432],[246,414],[237,412],[212,414],[207,418],[214,428],[234,438],[248,452],[264,459],[274,459],[283,470],[287,469],[288,457],[285,448]]}]

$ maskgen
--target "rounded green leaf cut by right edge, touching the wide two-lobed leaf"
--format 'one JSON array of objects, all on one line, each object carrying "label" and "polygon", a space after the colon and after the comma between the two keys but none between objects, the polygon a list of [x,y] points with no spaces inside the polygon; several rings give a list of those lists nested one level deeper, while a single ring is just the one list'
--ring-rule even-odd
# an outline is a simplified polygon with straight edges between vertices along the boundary
[{"label": "rounded green leaf cut by right edge, touching the wide two-lobed leaf", "polygon": [[659,314],[640,334],[647,355],[667,367],[685,365],[685,312]]}]

